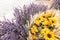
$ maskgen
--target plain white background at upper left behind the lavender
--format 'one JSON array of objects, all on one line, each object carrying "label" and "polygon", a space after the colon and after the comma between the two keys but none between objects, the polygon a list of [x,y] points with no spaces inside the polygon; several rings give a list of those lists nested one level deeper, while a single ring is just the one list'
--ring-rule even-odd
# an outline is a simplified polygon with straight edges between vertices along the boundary
[{"label": "plain white background at upper left behind the lavender", "polygon": [[33,1],[34,0],[0,0],[0,20],[4,20],[3,16],[11,20],[15,7],[22,7],[24,4],[29,5]]}]

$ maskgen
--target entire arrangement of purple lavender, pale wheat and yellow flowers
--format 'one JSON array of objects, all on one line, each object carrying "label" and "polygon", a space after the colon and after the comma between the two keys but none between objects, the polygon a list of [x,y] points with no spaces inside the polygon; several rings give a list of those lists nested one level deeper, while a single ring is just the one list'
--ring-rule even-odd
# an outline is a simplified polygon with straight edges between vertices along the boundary
[{"label": "entire arrangement of purple lavender, pale wheat and yellow flowers", "polygon": [[0,21],[0,40],[60,40],[59,3],[55,0],[51,8],[34,3],[15,8],[12,22]]}]

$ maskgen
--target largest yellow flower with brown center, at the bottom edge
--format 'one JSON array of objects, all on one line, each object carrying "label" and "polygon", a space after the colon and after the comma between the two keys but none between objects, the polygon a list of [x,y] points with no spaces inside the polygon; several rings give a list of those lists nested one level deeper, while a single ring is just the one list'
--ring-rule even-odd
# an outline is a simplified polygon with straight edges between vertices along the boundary
[{"label": "largest yellow flower with brown center, at the bottom edge", "polygon": [[45,40],[56,40],[54,33],[50,31],[48,28],[42,29],[41,34],[43,35]]}]

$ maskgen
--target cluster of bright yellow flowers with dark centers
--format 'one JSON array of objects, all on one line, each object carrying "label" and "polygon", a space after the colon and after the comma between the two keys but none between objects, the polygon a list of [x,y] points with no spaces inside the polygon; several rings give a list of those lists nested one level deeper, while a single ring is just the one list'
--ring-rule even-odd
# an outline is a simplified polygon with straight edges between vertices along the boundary
[{"label": "cluster of bright yellow flowers with dark centers", "polygon": [[54,29],[58,18],[52,12],[43,12],[38,15],[30,27],[31,40],[56,40]]}]

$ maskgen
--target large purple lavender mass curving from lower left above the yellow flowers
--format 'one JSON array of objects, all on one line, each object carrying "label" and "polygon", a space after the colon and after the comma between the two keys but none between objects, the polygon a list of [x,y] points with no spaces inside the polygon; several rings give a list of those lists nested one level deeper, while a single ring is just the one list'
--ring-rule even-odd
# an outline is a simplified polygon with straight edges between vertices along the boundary
[{"label": "large purple lavender mass curving from lower left above the yellow flowers", "polygon": [[44,5],[35,4],[31,4],[29,7],[24,6],[23,10],[15,8],[15,22],[1,21],[3,25],[0,28],[0,40],[27,40],[29,30],[25,26],[26,21],[29,20],[30,15],[46,9],[47,7]]}]

